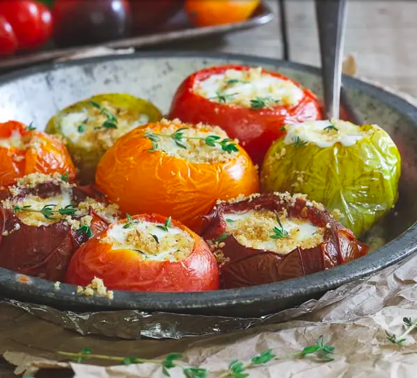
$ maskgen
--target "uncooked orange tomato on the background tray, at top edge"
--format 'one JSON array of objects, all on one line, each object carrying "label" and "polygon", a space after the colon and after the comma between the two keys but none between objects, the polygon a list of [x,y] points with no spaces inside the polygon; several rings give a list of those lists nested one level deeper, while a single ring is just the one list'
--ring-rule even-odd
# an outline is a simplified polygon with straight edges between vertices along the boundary
[{"label": "uncooked orange tomato on the background tray, at top edge", "polygon": [[248,19],[260,0],[186,0],[185,11],[195,26],[230,24]]}]

